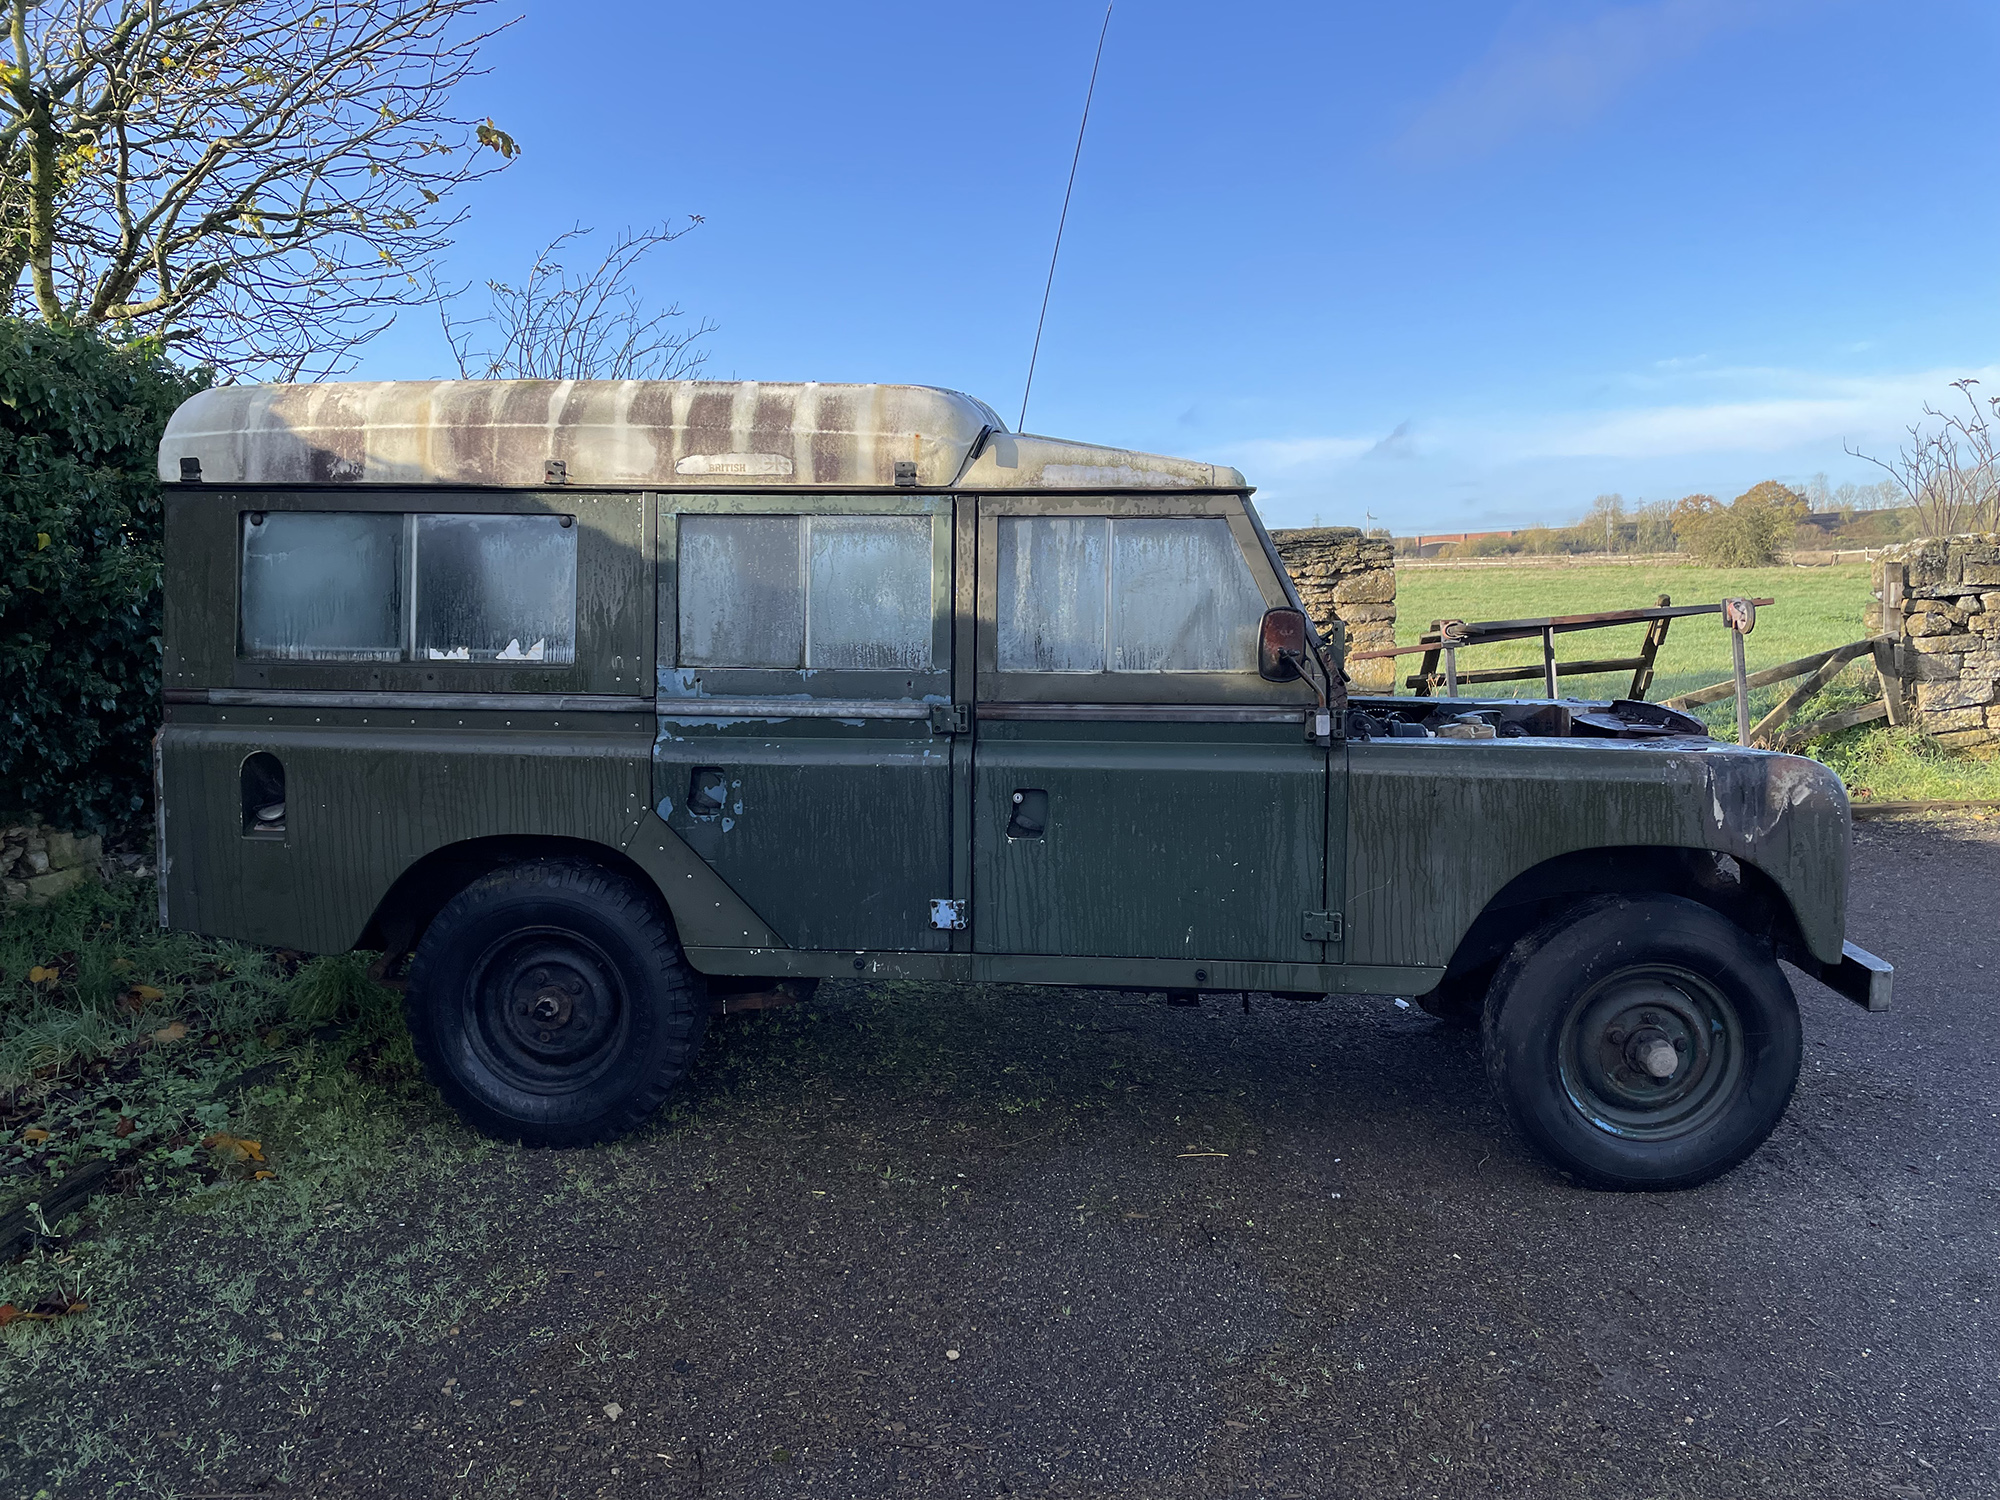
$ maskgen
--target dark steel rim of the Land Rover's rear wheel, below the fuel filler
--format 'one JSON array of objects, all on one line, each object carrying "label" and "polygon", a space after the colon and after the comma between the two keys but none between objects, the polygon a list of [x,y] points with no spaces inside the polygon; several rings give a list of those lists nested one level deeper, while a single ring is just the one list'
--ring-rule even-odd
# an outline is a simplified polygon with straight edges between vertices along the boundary
[{"label": "dark steel rim of the Land Rover's rear wheel, below the fuel filler", "polygon": [[632,1006],[616,964],[564,928],[522,928],[488,944],[464,990],[480,1062],[526,1094],[574,1094],[618,1058]]}]

